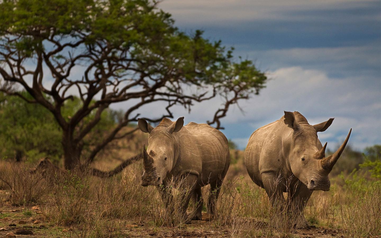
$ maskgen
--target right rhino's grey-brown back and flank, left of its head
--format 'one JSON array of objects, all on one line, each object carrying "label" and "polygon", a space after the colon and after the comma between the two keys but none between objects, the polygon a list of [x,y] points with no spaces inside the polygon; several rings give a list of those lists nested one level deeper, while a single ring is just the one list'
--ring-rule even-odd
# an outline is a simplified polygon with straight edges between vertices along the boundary
[{"label": "right rhino's grey-brown back and flank, left of its head", "polygon": [[263,187],[261,173],[278,172],[285,168],[282,141],[288,133],[282,118],[251,134],[245,150],[245,166],[251,179]]}]

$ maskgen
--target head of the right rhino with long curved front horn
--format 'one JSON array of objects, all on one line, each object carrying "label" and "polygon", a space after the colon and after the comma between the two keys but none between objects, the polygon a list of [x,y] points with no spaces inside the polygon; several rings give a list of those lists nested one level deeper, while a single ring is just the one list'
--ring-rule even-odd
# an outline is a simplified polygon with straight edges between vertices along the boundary
[{"label": "head of the right rhino with long curved front horn", "polygon": [[303,182],[309,190],[330,189],[328,174],[343,152],[352,129],[345,141],[332,155],[325,157],[325,148],[317,138],[317,132],[325,131],[333,118],[317,125],[309,125],[306,118],[299,112],[285,112],[284,123],[293,129],[288,161],[292,173]]}]

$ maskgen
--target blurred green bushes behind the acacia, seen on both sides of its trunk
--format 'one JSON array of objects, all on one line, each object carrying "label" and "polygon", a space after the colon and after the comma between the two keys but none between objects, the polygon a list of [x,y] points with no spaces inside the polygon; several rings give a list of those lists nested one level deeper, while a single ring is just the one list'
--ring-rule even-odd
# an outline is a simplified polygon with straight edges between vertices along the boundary
[{"label": "blurred green bushes behind the acacia, seen on both sides of its trunk", "polygon": [[[22,96],[32,99],[29,93],[22,91]],[[78,108],[81,101],[77,97],[66,101],[62,108],[62,115],[69,120]],[[101,120],[85,138],[83,153],[89,147],[100,141],[104,133],[115,125],[115,113],[104,110]],[[81,126],[86,126],[94,117],[90,113],[85,117]],[[49,157],[58,162],[63,155],[62,129],[53,115],[40,104],[30,104],[16,96],[7,96],[0,93],[0,156],[1,158],[27,158],[30,161]]]}]

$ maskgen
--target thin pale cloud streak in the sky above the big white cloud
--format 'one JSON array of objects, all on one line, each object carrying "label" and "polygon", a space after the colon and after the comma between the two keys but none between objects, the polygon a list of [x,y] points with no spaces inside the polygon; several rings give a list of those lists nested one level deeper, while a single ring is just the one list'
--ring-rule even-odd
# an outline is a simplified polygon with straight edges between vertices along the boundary
[{"label": "thin pale cloud streak in the sky above the big white cloud", "polygon": [[[301,66],[325,70],[338,76],[357,75],[379,82],[381,72],[381,48],[378,43],[361,46],[287,48],[253,50],[251,45],[239,45],[236,54],[256,58],[256,63],[265,69]],[[372,77],[372,78],[369,78]]]}]

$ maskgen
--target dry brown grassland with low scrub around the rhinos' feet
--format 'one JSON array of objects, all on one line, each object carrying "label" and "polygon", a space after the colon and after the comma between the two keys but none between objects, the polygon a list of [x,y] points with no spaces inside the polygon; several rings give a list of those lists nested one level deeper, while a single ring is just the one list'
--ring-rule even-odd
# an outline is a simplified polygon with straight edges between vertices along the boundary
[{"label": "dry brown grassland with low scrub around the rhinos' feet", "polygon": [[[139,138],[139,139],[138,139]],[[142,133],[118,141],[94,164],[110,169],[128,158],[141,143]],[[124,145],[136,145],[124,146]],[[346,149],[341,161],[350,161],[357,151]],[[173,203],[166,209],[155,187],[142,187],[142,162],[109,178],[94,177],[82,169],[66,172],[58,167],[35,171],[36,163],[3,160],[0,173],[2,212],[0,227],[28,230],[32,237],[376,237],[381,234],[380,146],[369,147],[360,164],[330,175],[329,192],[313,193],[305,209],[312,228],[296,229],[287,211],[272,208],[264,189],[247,176],[243,152],[231,149],[232,164],[224,180],[217,212],[209,220],[206,208],[201,221],[179,219],[181,194],[173,190]],[[31,171],[33,173],[31,173]],[[174,184],[173,184],[174,185]],[[204,199],[208,186],[203,188]],[[174,212],[169,212],[174,211]],[[189,207],[189,211],[192,207]],[[19,224],[19,222],[21,223]],[[22,224],[25,221],[26,224]],[[272,224],[281,224],[274,227]],[[11,226],[16,224],[16,226]]]}]

